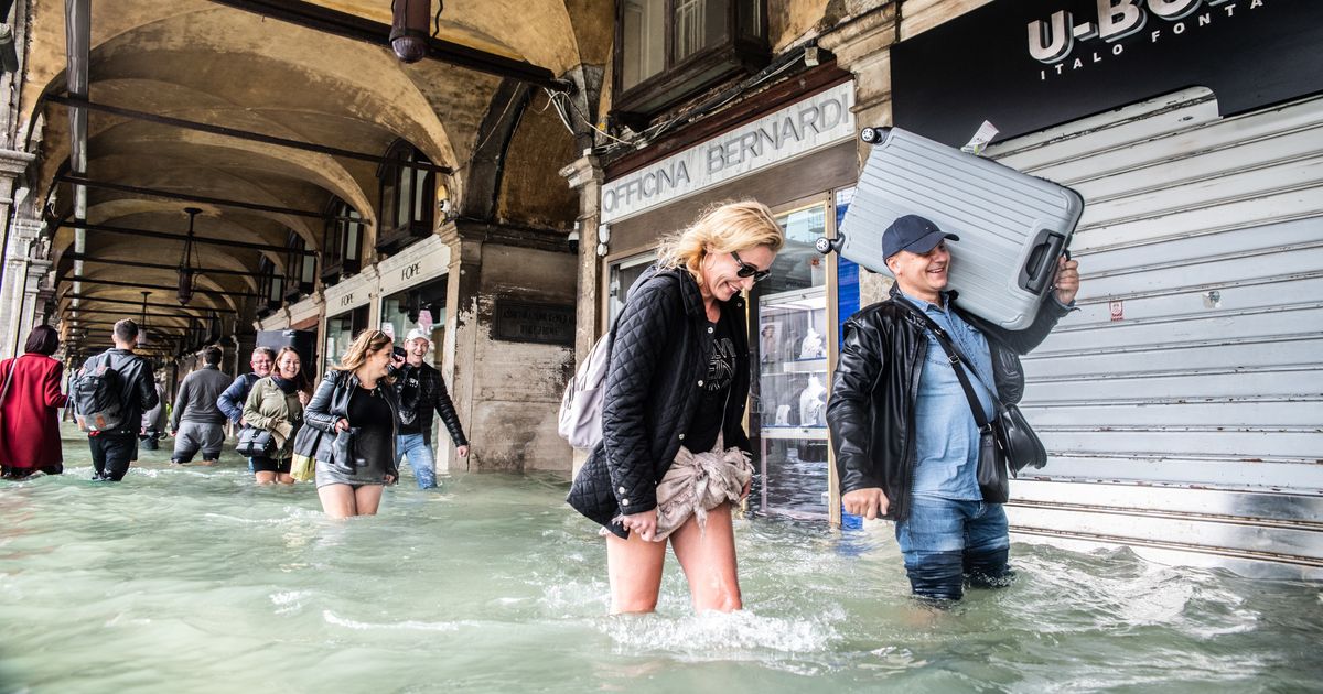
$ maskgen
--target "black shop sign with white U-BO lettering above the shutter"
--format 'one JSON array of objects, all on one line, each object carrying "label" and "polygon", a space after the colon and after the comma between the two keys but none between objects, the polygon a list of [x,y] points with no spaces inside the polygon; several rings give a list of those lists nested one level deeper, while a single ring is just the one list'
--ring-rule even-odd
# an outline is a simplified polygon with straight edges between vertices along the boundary
[{"label": "black shop sign with white U-BO lettering above the shutter", "polygon": [[1320,46],[1320,0],[996,0],[892,49],[892,106],[951,145],[1191,86],[1225,116],[1323,91]]}]

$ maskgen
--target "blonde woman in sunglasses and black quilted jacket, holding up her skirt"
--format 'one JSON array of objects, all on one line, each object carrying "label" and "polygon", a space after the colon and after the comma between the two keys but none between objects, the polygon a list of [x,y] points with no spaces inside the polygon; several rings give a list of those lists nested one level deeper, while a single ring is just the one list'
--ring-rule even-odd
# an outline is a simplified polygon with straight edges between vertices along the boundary
[{"label": "blonde woman in sunglasses and black quilted jacket, holding up her skirt", "polygon": [[759,202],[729,202],[663,241],[613,328],[602,442],[569,504],[602,525],[611,612],[651,612],[667,541],[696,611],[742,607],[732,505],[753,479],[742,293],[785,234]]}]

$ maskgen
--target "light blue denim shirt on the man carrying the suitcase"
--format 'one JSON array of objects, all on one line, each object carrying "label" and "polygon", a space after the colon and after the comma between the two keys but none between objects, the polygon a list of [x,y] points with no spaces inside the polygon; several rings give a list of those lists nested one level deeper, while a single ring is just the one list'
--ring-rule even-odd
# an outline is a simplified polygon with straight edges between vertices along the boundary
[{"label": "light blue denim shirt on the man carrying the suitcase", "polygon": [[[968,357],[980,378],[967,374],[983,411],[992,418],[996,397],[988,387],[992,379],[992,354],[987,338],[945,307],[930,304],[908,293],[909,303],[927,313],[942,327],[957,349]],[[943,304],[946,296],[942,296]],[[970,411],[970,401],[951,369],[946,350],[931,330],[927,333],[927,356],[918,381],[918,399],[914,403],[917,465],[914,493],[954,500],[982,500],[978,482],[979,427]],[[984,385],[988,383],[987,386]]]}]

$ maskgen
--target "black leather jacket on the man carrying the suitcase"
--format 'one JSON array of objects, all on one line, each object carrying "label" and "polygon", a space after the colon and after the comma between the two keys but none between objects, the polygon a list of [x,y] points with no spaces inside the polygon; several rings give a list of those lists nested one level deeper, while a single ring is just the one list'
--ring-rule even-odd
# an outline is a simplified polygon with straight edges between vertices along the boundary
[{"label": "black leather jacket on the man carrying the suitcase", "polygon": [[[987,337],[998,397],[1005,403],[1019,402],[1024,393],[1020,354],[1039,346],[1069,308],[1048,299],[1032,325],[1012,332],[963,311],[955,292],[946,296],[947,305]],[[845,321],[827,426],[841,493],[880,486],[890,504],[884,518],[904,521],[914,482],[914,399],[927,336],[923,323],[896,301],[905,299],[893,286],[890,299]]]}]

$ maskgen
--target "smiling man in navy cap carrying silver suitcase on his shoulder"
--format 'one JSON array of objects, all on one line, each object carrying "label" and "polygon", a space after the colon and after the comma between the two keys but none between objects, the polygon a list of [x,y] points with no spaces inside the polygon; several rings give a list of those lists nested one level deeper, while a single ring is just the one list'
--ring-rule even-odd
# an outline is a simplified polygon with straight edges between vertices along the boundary
[{"label": "smiling man in navy cap carrying silver suitcase on his shoulder", "polygon": [[[1078,263],[1062,258],[1054,291],[1024,330],[1004,330],[960,309],[947,292],[959,238],[933,222],[905,215],[882,234],[890,297],[845,323],[844,346],[827,405],[841,504],[847,513],[896,521],[910,587],[921,598],[958,600],[971,586],[1009,580],[1005,513],[979,492],[979,428],[955,366],[922,319],[949,333],[967,367],[984,414],[1000,395],[1019,401],[1025,354],[1074,305]],[[994,390],[995,389],[995,390]],[[998,393],[1002,391],[1002,393]]]}]

